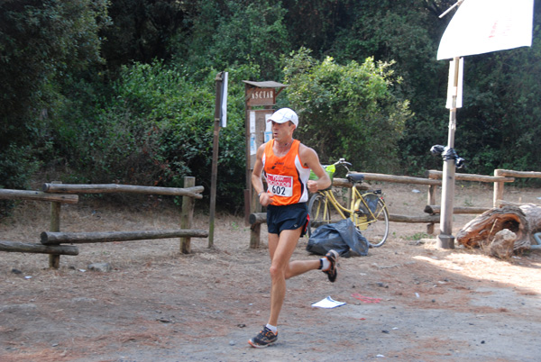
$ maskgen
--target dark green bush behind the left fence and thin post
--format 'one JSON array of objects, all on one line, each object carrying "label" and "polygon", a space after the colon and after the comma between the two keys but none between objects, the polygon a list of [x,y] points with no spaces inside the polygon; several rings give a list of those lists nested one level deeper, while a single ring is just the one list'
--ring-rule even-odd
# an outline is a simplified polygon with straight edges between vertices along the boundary
[{"label": "dark green bush behind the left fence and thin post", "polygon": [[[251,77],[252,71],[229,69],[228,124],[221,132],[218,186],[226,206],[236,206],[243,197],[244,185],[238,182],[245,165],[240,79]],[[64,150],[78,178],[87,182],[182,187],[184,176],[196,176],[207,194],[217,73],[209,69],[198,83],[183,69],[159,61],[124,67],[107,98],[87,94],[94,109],[66,109],[55,125],[57,147]]]}]

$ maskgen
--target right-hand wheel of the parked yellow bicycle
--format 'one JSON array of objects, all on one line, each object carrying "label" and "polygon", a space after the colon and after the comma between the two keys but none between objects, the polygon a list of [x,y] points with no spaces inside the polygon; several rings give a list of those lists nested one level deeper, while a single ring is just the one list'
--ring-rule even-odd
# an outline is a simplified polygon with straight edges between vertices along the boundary
[{"label": "right-hand wheel of the parked yellow bicycle", "polygon": [[389,212],[380,196],[372,193],[362,195],[360,203],[360,222],[355,222],[362,236],[368,240],[371,248],[378,248],[389,236]]}]

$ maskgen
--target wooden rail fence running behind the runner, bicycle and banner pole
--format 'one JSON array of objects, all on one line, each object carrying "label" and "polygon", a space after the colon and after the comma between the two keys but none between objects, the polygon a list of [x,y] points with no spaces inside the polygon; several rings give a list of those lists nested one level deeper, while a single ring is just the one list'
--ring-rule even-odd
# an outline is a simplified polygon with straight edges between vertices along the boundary
[{"label": "wooden rail fence running behind the runner, bicycle and banner pole", "polygon": [[[410,177],[410,176],[394,176],[385,174],[362,173],[366,181],[383,181],[397,184],[409,185],[426,185],[428,186],[427,204],[421,213],[418,215],[400,215],[389,214],[390,222],[409,222],[409,223],[426,223],[426,232],[434,234],[434,225],[440,221],[441,206],[436,204],[436,187],[442,186],[442,171],[429,170],[426,172],[426,178]],[[503,200],[504,184],[506,182],[514,182],[514,177],[538,177],[541,178],[541,172],[523,172],[496,169],[494,176],[474,175],[474,174],[455,174],[455,179],[458,181],[475,181],[487,182],[494,184],[493,207],[497,207]],[[333,180],[334,187],[349,187],[351,184],[344,178],[335,178]],[[369,188],[366,186],[366,188]],[[454,207],[453,213],[483,213],[489,210],[487,207]],[[260,228],[261,223],[266,222],[265,213],[252,213],[249,221],[251,223],[250,247],[258,248],[260,245]]]}]

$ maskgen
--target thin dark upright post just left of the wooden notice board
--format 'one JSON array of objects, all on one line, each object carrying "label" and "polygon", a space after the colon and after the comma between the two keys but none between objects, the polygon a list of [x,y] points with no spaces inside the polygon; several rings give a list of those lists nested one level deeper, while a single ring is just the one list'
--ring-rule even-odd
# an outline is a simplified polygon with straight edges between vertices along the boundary
[{"label": "thin dark upright post just left of the wooden notice board", "polygon": [[222,72],[215,77],[216,99],[215,99],[215,129],[212,150],[212,174],[210,179],[210,222],[208,228],[208,248],[214,246],[215,229],[215,208],[216,208],[216,178],[218,175],[218,144],[220,141],[220,106],[222,104]]}]

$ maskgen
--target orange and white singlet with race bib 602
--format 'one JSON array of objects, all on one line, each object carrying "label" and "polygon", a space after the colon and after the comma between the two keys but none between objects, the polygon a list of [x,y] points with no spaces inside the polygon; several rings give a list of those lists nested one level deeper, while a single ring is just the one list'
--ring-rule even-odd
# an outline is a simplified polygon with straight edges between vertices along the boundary
[{"label": "orange and white singlet with race bib 602", "polygon": [[272,151],[274,140],[265,145],[263,171],[267,189],[275,196],[272,205],[306,203],[308,201],[307,181],[310,168],[304,167],[298,155],[299,140],[293,140],[291,149],[284,157],[276,157]]}]

